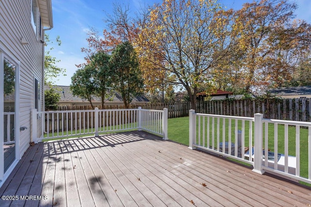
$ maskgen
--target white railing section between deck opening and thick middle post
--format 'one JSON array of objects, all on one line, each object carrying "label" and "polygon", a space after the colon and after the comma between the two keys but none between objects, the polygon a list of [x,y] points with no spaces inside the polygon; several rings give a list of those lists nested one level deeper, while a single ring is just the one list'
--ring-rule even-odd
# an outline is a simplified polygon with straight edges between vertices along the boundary
[{"label": "white railing section between deck opening and thick middle post", "polygon": [[250,157],[246,159],[244,149],[252,148],[254,118],[194,113],[194,110],[190,110],[189,118],[190,149],[201,148],[253,164]]}]

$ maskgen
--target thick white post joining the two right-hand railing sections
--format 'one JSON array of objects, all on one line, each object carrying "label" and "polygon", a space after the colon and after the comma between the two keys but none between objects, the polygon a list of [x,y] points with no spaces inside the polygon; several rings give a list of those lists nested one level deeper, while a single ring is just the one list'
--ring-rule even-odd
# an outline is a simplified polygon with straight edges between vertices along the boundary
[{"label": "thick white post joining the two right-hand railing sections", "polygon": [[[255,113],[255,127],[254,127],[254,169],[253,171],[259,174],[263,174],[262,169],[262,118],[263,114]],[[251,156],[252,150],[249,150],[249,156]]]}]

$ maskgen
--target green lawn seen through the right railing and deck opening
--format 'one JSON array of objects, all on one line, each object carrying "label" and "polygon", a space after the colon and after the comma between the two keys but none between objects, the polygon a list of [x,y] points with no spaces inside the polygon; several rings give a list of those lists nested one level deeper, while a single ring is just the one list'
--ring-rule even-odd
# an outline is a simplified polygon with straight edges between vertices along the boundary
[{"label": "green lawn seen through the right railing and deck opening", "polygon": [[[217,146],[217,119],[215,118],[215,125],[214,125],[214,133],[215,133],[215,140],[214,140],[214,146]],[[201,118],[201,136],[203,135],[203,119]],[[209,120],[209,137],[212,137],[212,119]],[[225,120],[225,141],[228,141],[228,130],[229,130],[229,123],[228,119]],[[198,118],[197,118],[197,127],[198,127]],[[245,146],[249,145],[248,137],[249,137],[249,122],[245,121]],[[242,121],[238,121],[238,129],[242,129]],[[231,141],[235,142],[235,121],[232,120],[231,122]],[[284,154],[284,147],[285,147],[285,139],[284,139],[284,125],[278,125],[277,126],[277,151],[280,154]],[[220,142],[222,142],[223,139],[223,120],[220,119],[220,127],[219,127],[219,137]],[[267,133],[268,133],[268,148],[270,151],[275,151],[274,146],[274,124],[268,124]],[[254,123],[253,123],[253,130],[252,130],[253,136],[254,136]],[[263,137],[265,134],[265,127],[263,128]],[[302,177],[308,177],[308,128],[300,127],[299,128],[299,139],[300,139],[300,176]],[[173,140],[174,142],[181,143],[184,145],[189,146],[189,117],[180,117],[180,118],[171,118],[168,120],[168,137],[170,140]],[[205,137],[207,137],[207,118],[205,118]],[[205,138],[206,139],[206,138]],[[198,143],[198,132],[197,132],[197,143]],[[254,142],[254,140],[253,140]],[[202,140],[201,140],[202,144]],[[210,138],[208,146],[211,146],[212,139]],[[254,145],[254,143],[252,143]],[[205,141],[205,146],[207,146],[207,140]],[[264,147],[264,142],[263,142]],[[296,127],[289,126],[288,127],[288,154],[291,156],[296,156]]]}]

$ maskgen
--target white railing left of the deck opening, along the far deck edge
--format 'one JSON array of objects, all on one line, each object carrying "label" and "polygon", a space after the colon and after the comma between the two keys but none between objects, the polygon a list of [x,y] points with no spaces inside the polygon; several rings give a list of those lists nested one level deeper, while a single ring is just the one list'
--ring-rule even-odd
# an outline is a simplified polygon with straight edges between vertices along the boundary
[{"label": "white railing left of the deck opening, along the far deck edge", "polygon": [[[77,110],[77,111],[32,111],[33,141],[80,137],[90,134],[146,130],[162,135],[167,140],[167,109],[163,111],[138,109]],[[37,117],[42,117],[41,127]],[[38,127],[41,137],[37,137]]]}]

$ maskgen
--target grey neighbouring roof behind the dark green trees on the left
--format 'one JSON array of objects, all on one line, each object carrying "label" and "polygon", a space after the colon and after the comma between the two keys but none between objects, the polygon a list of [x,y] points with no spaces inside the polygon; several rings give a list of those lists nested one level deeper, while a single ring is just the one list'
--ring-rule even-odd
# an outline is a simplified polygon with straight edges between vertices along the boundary
[{"label": "grey neighbouring roof behind the dark green trees on the left", "polygon": [[[61,85],[56,85],[53,86],[56,88],[56,91],[60,95],[60,100],[59,102],[83,102],[80,97],[78,96],[73,96],[71,91],[70,91],[70,86],[61,86]],[[63,93],[64,92],[64,93]],[[118,93],[114,93],[114,96],[111,98],[108,98],[107,102],[122,102],[122,97]],[[101,102],[101,98],[94,96],[93,101],[95,102]],[[145,96],[137,96],[133,97],[132,102],[149,102],[149,99],[146,98]]]}]

